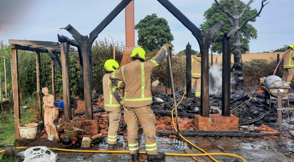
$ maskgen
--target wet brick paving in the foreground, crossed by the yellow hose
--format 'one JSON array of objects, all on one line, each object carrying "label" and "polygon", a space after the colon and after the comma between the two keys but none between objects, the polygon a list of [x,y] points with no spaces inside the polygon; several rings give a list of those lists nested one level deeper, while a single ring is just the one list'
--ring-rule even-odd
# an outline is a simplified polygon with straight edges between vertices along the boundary
[{"label": "wet brick paving in the foreground, crossed by the yellow hose", "polygon": [[[293,119],[294,120],[294,119]],[[113,150],[127,150],[127,143],[123,136],[119,136],[123,147],[115,148]],[[279,138],[266,139],[264,137],[200,137],[187,136],[187,139],[192,143],[202,148],[206,152],[223,152],[233,153],[242,156],[248,162],[272,162],[272,161],[294,161],[294,137],[288,134],[287,137],[280,135]],[[92,145],[88,150],[108,150],[107,142],[101,142]],[[141,142],[140,142],[141,141]],[[139,135],[140,151],[145,151],[144,136]],[[168,153],[202,153],[198,149],[185,144],[181,147],[182,150],[172,149],[174,146],[174,139],[157,136],[157,147],[159,152]],[[102,148],[102,147],[103,148]],[[100,148],[101,147],[101,148]],[[178,147],[179,148],[179,147]],[[86,149],[83,149],[86,150]],[[109,149],[112,150],[112,149]],[[127,153],[77,153],[77,152],[62,152],[56,151],[58,154],[58,162],[107,162],[107,161],[123,161],[132,162],[133,160]],[[219,162],[239,162],[242,161],[236,157],[225,155],[213,156]],[[141,159],[141,161],[147,161]],[[208,156],[166,156],[161,161],[185,161],[185,162],[212,162]]]}]

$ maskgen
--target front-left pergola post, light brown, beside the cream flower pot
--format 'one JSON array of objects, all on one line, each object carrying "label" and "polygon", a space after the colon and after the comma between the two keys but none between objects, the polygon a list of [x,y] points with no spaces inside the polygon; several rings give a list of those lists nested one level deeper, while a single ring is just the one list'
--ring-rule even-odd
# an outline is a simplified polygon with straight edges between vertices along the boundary
[{"label": "front-left pergola post, light brown, beside the cream flower pot", "polygon": [[19,137],[18,122],[21,118],[19,109],[19,87],[18,87],[18,58],[17,58],[17,48],[14,44],[10,44],[11,57],[12,57],[12,82],[13,82],[13,104],[14,104],[14,133],[15,138]]}]

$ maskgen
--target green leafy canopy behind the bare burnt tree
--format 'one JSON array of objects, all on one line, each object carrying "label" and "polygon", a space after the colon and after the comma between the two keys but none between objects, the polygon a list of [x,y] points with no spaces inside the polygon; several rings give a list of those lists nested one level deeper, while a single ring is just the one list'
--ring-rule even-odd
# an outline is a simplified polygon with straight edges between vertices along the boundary
[{"label": "green leafy canopy behind the bare burnt tree", "polygon": [[[220,5],[227,10],[229,13],[233,14],[233,4],[231,2],[227,2],[224,0],[220,1]],[[246,4],[242,1],[238,1],[239,5],[239,13],[241,13],[246,6]],[[248,18],[256,15],[258,12],[256,9],[251,10],[251,7],[248,6],[247,10],[244,12],[243,16],[240,17],[240,24],[243,24]],[[218,54],[222,53],[222,37],[223,34],[229,32],[233,29],[233,25],[228,19],[226,13],[222,12],[216,3],[213,3],[212,6],[204,12],[204,20],[206,20],[203,24],[200,25],[200,29],[202,32],[207,32],[218,20],[223,20],[226,22],[224,26],[220,28],[217,35],[214,37],[214,40],[211,43],[211,51],[217,52]],[[250,22],[255,22],[256,19],[250,20]],[[257,30],[251,25],[246,24],[240,30],[240,41],[243,43],[241,52],[246,53],[249,50],[249,42],[251,39],[257,38]],[[232,38],[232,52],[233,52],[233,37]]]}]

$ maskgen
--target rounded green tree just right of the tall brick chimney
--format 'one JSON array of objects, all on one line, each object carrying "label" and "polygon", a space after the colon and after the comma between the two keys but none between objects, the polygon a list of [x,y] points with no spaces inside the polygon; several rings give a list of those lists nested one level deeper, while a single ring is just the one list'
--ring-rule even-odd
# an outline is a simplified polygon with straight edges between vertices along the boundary
[{"label": "rounded green tree just right of the tall brick chimney", "polygon": [[138,30],[138,45],[145,50],[153,51],[164,43],[171,44],[174,40],[168,21],[162,17],[158,18],[156,13],[141,19],[135,29]]}]

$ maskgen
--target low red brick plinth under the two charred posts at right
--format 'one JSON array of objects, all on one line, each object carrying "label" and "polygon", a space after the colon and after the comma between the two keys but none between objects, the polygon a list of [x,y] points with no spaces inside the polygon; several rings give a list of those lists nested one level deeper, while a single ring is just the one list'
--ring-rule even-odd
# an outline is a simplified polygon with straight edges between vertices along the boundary
[{"label": "low red brick plinth under the two charred posts at right", "polygon": [[220,114],[209,114],[209,117],[195,115],[195,130],[239,130],[239,118],[231,114],[224,117]]}]

